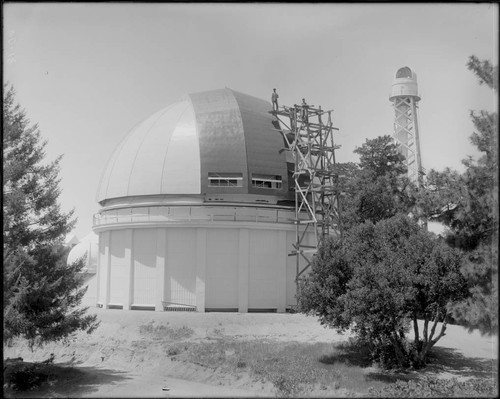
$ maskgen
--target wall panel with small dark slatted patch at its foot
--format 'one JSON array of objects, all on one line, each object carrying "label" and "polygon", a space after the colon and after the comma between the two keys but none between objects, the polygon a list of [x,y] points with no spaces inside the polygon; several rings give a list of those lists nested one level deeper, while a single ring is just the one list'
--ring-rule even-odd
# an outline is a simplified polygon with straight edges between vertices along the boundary
[{"label": "wall panel with small dark slatted patch at its foot", "polygon": [[167,230],[167,302],[196,306],[196,229]]}]

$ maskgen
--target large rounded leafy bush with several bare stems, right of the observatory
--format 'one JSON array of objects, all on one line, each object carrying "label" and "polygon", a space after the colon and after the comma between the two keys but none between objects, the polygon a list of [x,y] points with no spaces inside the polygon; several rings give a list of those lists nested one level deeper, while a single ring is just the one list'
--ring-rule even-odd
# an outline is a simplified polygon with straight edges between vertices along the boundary
[{"label": "large rounded leafy bush with several bare stems, right of the observatory", "polygon": [[[405,215],[366,222],[343,241],[322,242],[301,282],[299,309],[339,332],[350,328],[385,367],[419,368],[445,334],[449,305],[467,295],[461,265],[459,251]],[[414,343],[406,338],[412,327]]]}]

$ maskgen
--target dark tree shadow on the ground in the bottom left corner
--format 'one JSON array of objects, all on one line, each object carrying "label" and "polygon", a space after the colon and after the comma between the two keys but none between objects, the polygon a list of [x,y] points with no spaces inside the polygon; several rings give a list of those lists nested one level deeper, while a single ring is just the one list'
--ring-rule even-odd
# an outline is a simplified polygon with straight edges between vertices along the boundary
[{"label": "dark tree shadow on the ground in the bottom left corner", "polygon": [[[26,363],[25,363],[26,364]],[[98,367],[80,367],[71,363],[51,364],[41,371],[48,376],[40,386],[30,391],[4,388],[6,398],[85,397],[101,385],[114,385],[130,379],[126,372]],[[4,381],[5,382],[5,381]]]}]

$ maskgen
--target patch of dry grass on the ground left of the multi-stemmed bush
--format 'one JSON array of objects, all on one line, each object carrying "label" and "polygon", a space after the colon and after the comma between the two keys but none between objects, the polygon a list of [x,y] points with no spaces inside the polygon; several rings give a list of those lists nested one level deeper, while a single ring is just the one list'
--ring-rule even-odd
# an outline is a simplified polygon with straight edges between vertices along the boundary
[{"label": "patch of dry grass on the ground left of the multi-stemmed bush", "polygon": [[363,348],[326,343],[241,341],[228,337],[189,346],[179,361],[191,362],[222,373],[250,373],[270,382],[277,396],[332,396],[349,392],[367,394],[383,388],[383,381],[367,377],[360,361]]}]

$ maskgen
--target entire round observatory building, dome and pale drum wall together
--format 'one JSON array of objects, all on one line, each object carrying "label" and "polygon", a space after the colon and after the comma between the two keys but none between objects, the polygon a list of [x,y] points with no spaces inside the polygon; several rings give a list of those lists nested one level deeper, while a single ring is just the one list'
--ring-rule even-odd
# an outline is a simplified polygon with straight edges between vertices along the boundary
[{"label": "entire round observatory building, dome and pale drum wall together", "polygon": [[296,306],[306,264],[290,250],[298,234],[313,248],[315,233],[296,223],[295,165],[271,110],[228,88],[189,94],[125,136],[97,192],[89,301],[157,311]]}]

